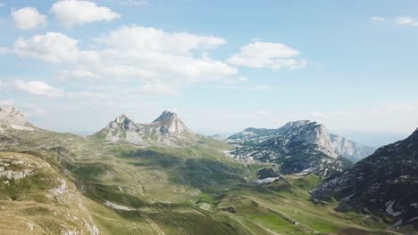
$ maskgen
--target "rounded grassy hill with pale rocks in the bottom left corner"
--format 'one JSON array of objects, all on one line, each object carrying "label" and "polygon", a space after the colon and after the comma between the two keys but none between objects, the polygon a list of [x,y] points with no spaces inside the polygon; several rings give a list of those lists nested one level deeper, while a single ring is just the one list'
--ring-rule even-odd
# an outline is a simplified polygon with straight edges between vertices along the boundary
[{"label": "rounded grassy hill with pale rocks in the bottom left corner", "polygon": [[90,233],[96,225],[83,198],[46,161],[0,152],[0,234]]}]

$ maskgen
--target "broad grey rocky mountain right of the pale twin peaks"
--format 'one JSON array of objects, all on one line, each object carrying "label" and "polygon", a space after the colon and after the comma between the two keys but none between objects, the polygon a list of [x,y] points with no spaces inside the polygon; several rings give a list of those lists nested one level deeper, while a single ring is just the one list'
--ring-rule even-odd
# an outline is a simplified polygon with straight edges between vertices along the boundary
[{"label": "broad grey rocky mountain right of the pale twin peaks", "polygon": [[325,126],[307,120],[289,122],[278,129],[247,128],[231,135],[227,142],[236,146],[230,152],[234,158],[280,164],[284,174],[309,169],[322,177],[351,166],[347,159],[364,158],[373,150],[329,134]]}]

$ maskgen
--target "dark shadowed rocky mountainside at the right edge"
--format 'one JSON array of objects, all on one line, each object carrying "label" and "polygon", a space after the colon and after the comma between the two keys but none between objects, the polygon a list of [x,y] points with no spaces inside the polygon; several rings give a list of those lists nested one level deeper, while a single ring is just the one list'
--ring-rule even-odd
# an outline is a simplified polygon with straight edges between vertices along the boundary
[{"label": "dark shadowed rocky mountainside at the right edge", "polygon": [[391,217],[394,226],[418,220],[418,129],[376,150],[312,191],[317,199],[342,199],[341,210]]}]

